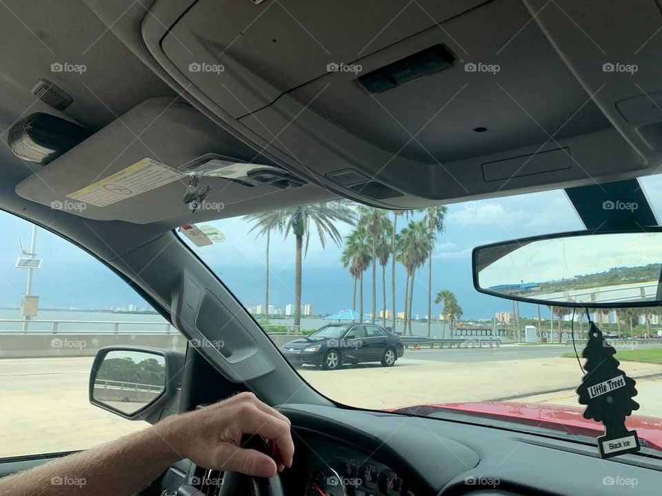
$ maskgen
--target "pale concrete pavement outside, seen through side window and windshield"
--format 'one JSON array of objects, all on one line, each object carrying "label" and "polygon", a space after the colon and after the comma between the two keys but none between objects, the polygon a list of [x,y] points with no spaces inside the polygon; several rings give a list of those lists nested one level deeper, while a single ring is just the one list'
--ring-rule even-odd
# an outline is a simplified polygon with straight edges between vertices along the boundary
[{"label": "pale concrete pavement outside, seen through side window and windshield", "polygon": [[[576,360],[560,358],[567,351],[572,347],[410,349],[391,368],[299,372],[324,395],[369,409],[503,399],[576,405],[582,373]],[[89,448],[146,426],[88,403],[91,365],[89,357],[0,360],[0,457]],[[662,366],[621,368],[639,378],[637,413],[660,417]]]}]

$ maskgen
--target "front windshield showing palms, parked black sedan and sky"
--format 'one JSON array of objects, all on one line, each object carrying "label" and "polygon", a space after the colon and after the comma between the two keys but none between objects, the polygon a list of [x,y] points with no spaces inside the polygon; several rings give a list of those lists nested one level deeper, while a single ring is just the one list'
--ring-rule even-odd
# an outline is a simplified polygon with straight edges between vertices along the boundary
[{"label": "front windshield showing palms, parked black sedan and sky", "polygon": [[[659,176],[641,185],[659,198]],[[301,377],[332,400],[425,415],[470,412],[522,428],[537,419],[566,435],[572,422],[603,431],[583,419],[575,393],[585,372],[572,341],[583,362],[585,311],[496,298],[472,284],[477,245],[585,229],[563,190],[421,211],[336,200],[205,225],[223,236],[205,247],[184,241]],[[639,391],[634,415],[654,420],[662,446],[662,313],[605,309],[590,317],[617,337],[616,358]],[[364,325],[354,344],[283,349],[305,335],[340,338],[345,325],[331,323]]]}]

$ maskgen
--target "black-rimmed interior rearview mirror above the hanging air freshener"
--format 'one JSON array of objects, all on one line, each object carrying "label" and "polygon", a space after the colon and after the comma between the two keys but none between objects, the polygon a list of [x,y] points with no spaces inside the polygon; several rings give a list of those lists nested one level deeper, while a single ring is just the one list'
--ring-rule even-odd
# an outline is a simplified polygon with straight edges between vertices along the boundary
[{"label": "black-rimmed interior rearview mirror above the hanging air freshener", "polygon": [[481,293],[554,307],[653,307],[662,302],[662,228],[576,231],[474,248]]}]

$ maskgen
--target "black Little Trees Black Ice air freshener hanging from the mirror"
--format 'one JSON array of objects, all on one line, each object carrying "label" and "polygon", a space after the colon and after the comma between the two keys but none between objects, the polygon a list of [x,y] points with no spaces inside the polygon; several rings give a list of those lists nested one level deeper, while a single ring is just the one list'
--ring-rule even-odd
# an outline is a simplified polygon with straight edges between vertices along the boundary
[{"label": "black Little Trees Black Ice air freshener hanging from the mirror", "polygon": [[586,372],[576,389],[579,403],[586,405],[584,418],[605,424],[605,435],[598,437],[598,447],[603,458],[639,451],[636,431],[628,431],[625,417],[639,409],[632,400],[636,396],[634,379],[619,369],[614,358],[616,350],[603,338],[602,331],[591,322],[588,342],[581,353],[586,362]]}]

